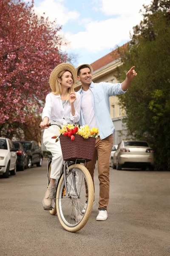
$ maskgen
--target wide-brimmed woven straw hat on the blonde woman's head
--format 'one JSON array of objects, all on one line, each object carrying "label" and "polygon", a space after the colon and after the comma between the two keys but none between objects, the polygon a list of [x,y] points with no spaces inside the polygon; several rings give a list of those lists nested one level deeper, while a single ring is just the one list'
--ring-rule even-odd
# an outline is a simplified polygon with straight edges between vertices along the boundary
[{"label": "wide-brimmed woven straw hat on the blonde woman's head", "polygon": [[73,76],[74,83],[76,83],[76,81],[77,81],[77,73],[76,73],[76,69],[73,65],[71,65],[70,63],[59,64],[51,72],[50,79],[49,79],[51,90],[53,90],[54,92],[56,91],[56,80],[57,80],[58,74],[63,70],[70,71]]}]

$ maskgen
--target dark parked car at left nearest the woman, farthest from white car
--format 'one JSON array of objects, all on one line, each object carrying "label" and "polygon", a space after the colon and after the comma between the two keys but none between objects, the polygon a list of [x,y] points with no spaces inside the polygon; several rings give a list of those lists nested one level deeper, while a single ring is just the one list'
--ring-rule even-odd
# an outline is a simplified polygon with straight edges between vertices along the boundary
[{"label": "dark parked car at left nearest the woman, farthest from white car", "polygon": [[31,168],[34,164],[42,166],[43,153],[36,141],[17,141],[23,145],[27,157],[27,167]]}]

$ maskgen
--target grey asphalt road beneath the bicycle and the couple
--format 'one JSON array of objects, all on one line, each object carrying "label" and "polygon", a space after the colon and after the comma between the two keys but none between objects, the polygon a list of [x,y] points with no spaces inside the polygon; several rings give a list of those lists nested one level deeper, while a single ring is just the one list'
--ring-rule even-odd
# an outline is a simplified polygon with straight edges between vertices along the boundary
[{"label": "grey asphalt road beneath the bicycle and the couple", "polygon": [[0,177],[0,256],[170,256],[170,172],[110,169],[108,220],[96,221],[96,204],[69,233],[42,208],[46,164]]}]

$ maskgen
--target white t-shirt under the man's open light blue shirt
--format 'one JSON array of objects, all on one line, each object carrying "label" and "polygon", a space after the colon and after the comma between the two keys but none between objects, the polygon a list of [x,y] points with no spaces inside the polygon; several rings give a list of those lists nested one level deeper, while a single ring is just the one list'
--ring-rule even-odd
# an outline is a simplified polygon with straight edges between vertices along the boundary
[{"label": "white t-shirt under the man's open light blue shirt", "polygon": [[89,128],[97,128],[97,120],[94,113],[94,108],[92,105],[92,99],[91,99],[91,90],[88,89],[87,91],[82,90],[82,103],[81,108],[83,112],[83,117],[85,120],[85,124],[89,126]]}]

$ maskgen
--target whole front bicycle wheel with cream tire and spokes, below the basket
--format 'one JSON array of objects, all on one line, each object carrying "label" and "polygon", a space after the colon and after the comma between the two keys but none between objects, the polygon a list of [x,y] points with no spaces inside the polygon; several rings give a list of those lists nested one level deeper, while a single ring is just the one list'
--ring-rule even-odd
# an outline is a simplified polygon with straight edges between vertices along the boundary
[{"label": "whole front bicycle wheel with cream tire and spokes, below the basket", "polygon": [[[85,166],[73,164],[69,166],[69,170],[67,175],[68,194],[65,191],[64,175],[59,180],[56,195],[57,215],[65,230],[77,232],[85,226],[90,217],[94,203],[94,186],[91,175]],[[87,200],[86,188],[88,189],[88,204],[84,215],[82,215],[81,212]]]}]

